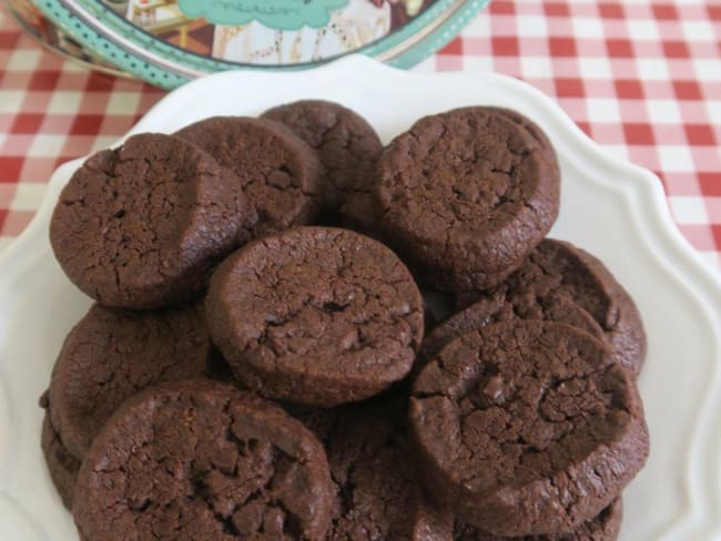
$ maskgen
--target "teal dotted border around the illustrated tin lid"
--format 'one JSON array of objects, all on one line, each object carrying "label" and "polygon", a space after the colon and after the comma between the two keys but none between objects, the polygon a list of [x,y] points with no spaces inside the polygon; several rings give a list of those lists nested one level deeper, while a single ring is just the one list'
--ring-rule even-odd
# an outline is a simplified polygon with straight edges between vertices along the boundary
[{"label": "teal dotted border around the illustrated tin lid", "polygon": [[[412,68],[448,43],[490,0],[437,0],[413,21],[358,53]],[[303,70],[318,63],[254,65],[225,62],[177,49],[140,30],[94,0],[33,0],[54,24],[121,70],[173,89],[204,73],[226,70]]]}]

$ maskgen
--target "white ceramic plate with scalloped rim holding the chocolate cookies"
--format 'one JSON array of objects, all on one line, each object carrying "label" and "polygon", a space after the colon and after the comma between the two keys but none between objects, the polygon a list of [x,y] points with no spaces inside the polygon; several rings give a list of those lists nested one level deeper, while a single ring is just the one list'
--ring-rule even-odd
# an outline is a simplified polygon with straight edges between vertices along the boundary
[{"label": "white ceramic plate with scalloped rim holding the chocolate cookies", "polygon": [[[216,114],[255,115],[324,98],[367,118],[384,141],[418,118],[469,104],[516,109],[555,142],[562,203],[552,235],[601,257],[646,321],[640,377],[651,432],[646,469],[626,491],[621,539],[721,539],[721,282],[671,222],[661,183],[618,163],[548,98],[516,80],[479,73],[395,71],[347,58],[305,73],[229,72],[192,82],[132,130],[173,132]],[[77,539],[40,451],[38,397],[71,326],[90,300],[55,264],[48,223],[81,160],[52,176],[35,220],[0,257],[0,540]]]}]

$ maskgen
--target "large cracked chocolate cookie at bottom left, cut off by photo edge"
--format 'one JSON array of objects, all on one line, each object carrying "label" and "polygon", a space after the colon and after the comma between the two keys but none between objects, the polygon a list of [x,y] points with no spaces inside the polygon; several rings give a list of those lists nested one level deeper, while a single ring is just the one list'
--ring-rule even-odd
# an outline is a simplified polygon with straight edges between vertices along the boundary
[{"label": "large cracked chocolate cookie at bottom left, cut off by photo edge", "polygon": [[334,494],[323,447],[281,408],[210,380],[135,395],[78,474],[83,539],[322,541]]}]

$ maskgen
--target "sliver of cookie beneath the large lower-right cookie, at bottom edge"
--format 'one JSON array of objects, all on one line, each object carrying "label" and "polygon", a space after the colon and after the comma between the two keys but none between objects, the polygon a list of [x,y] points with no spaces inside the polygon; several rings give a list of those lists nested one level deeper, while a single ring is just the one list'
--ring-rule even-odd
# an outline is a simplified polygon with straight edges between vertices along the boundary
[{"label": "sliver of cookie beneath the large lower-right cookie, at bottom edge", "polygon": [[473,525],[456,522],[453,539],[454,541],[615,541],[621,530],[622,518],[623,504],[621,499],[617,498],[598,517],[567,533],[499,538]]}]

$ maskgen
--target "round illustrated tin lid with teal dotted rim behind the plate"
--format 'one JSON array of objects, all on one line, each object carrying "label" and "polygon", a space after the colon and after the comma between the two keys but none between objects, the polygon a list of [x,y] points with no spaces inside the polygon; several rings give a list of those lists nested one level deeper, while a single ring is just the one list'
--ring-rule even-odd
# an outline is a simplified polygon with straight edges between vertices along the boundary
[{"label": "round illustrated tin lid with teal dotted rim behind the plate", "polygon": [[73,39],[160,86],[362,52],[408,68],[489,0],[33,0]]}]

